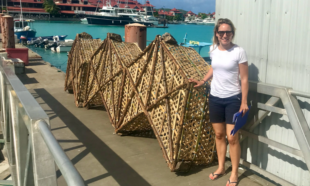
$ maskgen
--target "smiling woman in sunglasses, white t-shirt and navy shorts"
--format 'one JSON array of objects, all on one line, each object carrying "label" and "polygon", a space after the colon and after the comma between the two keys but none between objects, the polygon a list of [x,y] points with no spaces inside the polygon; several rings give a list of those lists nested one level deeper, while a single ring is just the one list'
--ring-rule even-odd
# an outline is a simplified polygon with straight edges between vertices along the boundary
[{"label": "smiling woman in sunglasses, white t-shirt and navy shorts", "polygon": [[194,86],[197,87],[204,85],[213,77],[209,96],[209,114],[216,135],[219,168],[209,175],[209,179],[213,181],[226,175],[227,135],[232,174],[226,186],[237,186],[239,181],[238,166],[241,148],[238,139],[239,133],[230,135],[234,128],[233,115],[239,111],[243,112],[243,116],[249,109],[247,105],[248,61],[245,50],[232,43],[235,30],[235,26],[229,19],[218,20],[214,28],[213,45],[210,47],[212,67],[201,81],[189,78],[190,82],[197,83]]}]

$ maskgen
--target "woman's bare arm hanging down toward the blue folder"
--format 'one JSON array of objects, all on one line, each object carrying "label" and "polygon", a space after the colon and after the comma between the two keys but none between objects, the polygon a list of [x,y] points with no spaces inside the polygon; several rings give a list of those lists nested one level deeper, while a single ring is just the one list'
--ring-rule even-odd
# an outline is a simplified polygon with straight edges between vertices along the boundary
[{"label": "woman's bare arm hanging down toward the blue folder", "polygon": [[241,78],[241,91],[242,100],[239,112],[243,111],[242,117],[249,110],[247,99],[249,91],[249,65],[248,62],[239,64],[240,78]]}]

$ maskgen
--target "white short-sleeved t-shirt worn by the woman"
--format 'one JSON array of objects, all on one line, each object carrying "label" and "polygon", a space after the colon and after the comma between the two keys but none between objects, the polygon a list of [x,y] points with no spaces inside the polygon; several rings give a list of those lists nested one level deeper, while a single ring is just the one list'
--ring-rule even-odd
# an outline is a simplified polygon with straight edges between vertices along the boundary
[{"label": "white short-sleeved t-shirt worn by the woman", "polygon": [[217,45],[214,47],[214,50],[212,45],[210,47],[213,68],[210,94],[227,98],[241,93],[239,64],[248,61],[246,51],[238,45],[234,45],[227,51],[220,51]]}]

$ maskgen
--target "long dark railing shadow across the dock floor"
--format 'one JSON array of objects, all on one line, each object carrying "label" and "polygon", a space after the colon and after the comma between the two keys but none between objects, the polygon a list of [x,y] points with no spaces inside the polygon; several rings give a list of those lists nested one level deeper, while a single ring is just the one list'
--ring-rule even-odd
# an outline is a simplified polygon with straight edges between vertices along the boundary
[{"label": "long dark railing shadow across the dock floor", "polygon": [[[77,117],[75,117],[67,108],[56,100],[49,92],[43,88],[34,89],[41,99],[54,110],[56,115],[68,126],[69,130],[85,145],[86,149],[72,159],[73,164],[80,161],[88,153],[91,153],[108,173],[85,180],[85,184],[112,176],[121,186],[132,185],[150,185],[139,173],[129,166],[121,157],[108,147],[97,135],[86,127]],[[94,142],[96,145],[94,145]],[[98,148],[99,147],[99,148]],[[57,174],[57,177],[60,173]]]}]

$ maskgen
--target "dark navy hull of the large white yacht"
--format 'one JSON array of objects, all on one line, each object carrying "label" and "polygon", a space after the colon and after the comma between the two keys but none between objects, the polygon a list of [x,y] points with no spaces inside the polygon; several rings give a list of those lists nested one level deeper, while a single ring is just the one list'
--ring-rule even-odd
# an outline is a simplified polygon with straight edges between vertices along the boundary
[{"label": "dark navy hull of the large white yacht", "polygon": [[139,23],[145,26],[153,26],[153,23],[133,21],[131,17],[109,17],[104,15],[86,15],[89,25],[125,26],[126,24]]}]

